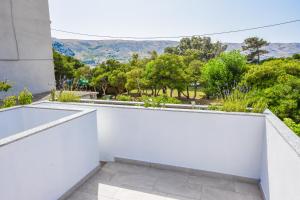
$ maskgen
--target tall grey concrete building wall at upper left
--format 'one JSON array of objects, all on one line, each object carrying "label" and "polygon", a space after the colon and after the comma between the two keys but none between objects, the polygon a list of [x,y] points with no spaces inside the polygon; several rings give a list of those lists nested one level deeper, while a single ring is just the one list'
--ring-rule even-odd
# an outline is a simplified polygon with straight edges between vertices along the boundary
[{"label": "tall grey concrete building wall at upper left", "polygon": [[0,80],[18,93],[42,93],[55,86],[48,0],[1,0]]}]

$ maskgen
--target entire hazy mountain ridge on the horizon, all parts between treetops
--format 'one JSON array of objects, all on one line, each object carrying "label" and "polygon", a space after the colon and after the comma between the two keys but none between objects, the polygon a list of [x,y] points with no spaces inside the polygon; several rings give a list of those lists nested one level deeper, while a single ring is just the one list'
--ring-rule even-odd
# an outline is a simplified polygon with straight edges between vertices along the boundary
[{"label": "entire hazy mountain ridge on the horizon, all parts between treetops", "polygon": [[[88,65],[97,65],[107,59],[117,59],[126,62],[133,53],[141,57],[148,56],[149,51],[163,53],[169,46],[176,46],[176,41],[132,41],[132,40],[75,40],[52,39],[53,48],[67,56],[74,56]],[[227,51],[241,49],[241,43],[225,43]],[[264,58],[288,57],[300,53],[300,43],[271,43],[266,47],[269,51]]]}]

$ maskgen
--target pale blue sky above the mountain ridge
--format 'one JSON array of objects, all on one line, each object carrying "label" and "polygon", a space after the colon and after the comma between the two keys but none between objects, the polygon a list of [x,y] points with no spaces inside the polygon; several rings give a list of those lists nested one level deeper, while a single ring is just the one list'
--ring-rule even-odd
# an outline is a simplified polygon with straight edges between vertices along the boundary
[{"label": "pale blue sky above the mountain ridge", "polygon": [[[51,27],[116,37],[199,35],[300,19],[300,0],[49,0]],[[211,36],[300,42],[300,22]],[[101,39],[52,31],[52,37]]]}]

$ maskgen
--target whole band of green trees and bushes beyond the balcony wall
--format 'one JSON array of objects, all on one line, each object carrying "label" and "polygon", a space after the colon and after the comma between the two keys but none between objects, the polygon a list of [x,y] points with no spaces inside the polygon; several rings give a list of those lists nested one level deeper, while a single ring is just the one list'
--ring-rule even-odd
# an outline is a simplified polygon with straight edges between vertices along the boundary
[{"label": "whole band of green trees and bushes beyond the balcony wall", "polygon": [[54,52],[55,77],[60,87],[95,90],[118,100],[148,96],[152,102],[158,97],[168,103],[176,97],[185,102],[217,101],[222,105],[211,108],[243,112],[268,107],[297,132],[293,127],[300,123],[299,55],[261,61],[266,53],[262,47],[268,43],[253,37],[244,44],[244,52],[224,52],[226,46],[210,38],[184,38],[163,54],[133,54],[129,62],[109,59],[95,68]]}]

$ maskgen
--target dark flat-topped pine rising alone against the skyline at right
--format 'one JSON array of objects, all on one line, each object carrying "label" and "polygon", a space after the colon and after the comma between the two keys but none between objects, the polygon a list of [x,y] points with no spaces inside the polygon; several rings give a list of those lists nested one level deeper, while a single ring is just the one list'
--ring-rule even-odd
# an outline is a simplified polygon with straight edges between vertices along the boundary
[{"label": "dark flat-topped pine rising alone against the skyline at right", "polygon": [[268,42],[261,38],[250,37],[245,39],[242,49],[248,53],[249,62],[259,63],[261,56],[268,53],[267,50],[262,48],[268,45]]}]

